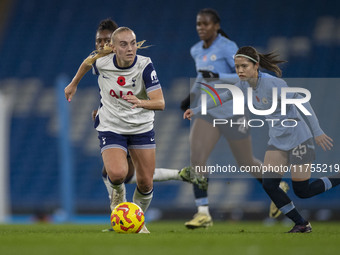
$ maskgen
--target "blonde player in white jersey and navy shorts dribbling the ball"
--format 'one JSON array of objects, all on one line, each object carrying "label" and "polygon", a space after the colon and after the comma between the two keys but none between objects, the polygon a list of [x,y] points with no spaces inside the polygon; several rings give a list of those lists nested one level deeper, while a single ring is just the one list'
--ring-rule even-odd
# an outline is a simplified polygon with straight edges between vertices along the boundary
[{"label": "blonde player in white jersey and navy shorts dribbling the ball", "polygon": [[[113,53],[94,63],[101,97],[95,127],[117,204],[125,199],[122,184],[128,173],[129,151],[137,176],[133,202],[145,212],[153,195],[154,110],[163,110],[165,102],[151,59],[136,54],[135,33],[127,27],[118,28],[110,47]],[[72,83],[65,88],[68,101],[76,90]],[[141,232],[149,231],[144,228]]]}]

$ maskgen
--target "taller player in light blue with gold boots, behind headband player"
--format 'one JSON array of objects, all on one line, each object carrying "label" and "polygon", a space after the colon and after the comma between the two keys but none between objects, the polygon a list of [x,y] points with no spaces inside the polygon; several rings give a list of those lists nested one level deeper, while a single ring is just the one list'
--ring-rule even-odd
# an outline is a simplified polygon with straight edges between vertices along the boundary
[{"label": "taller player in light blue with gold boots, behind headband player", "polygon": [[[218,13],[213,9],[200,10],[196,18],[196,29],[201,41],[191,48],[190,53],[195,61],[197,78],[190,95],[182,101],[183,111],[188,109],[190,104],[191,107],[200,105],[201,88],[205,88],[200,82],[213,86],[215,83],[234,84],[239,80],[235,73],[233,59],[238,47],[221,29]],[[232,102],[227,102],[210,110],[207,115],[197,116],[194,119],[190,132],[192,167],[205,166],[216,143],[223,136],[239,166],[256,165],[260,168],[261,162],[253,156],[248,127],[240,128],[238,125],[214,127],[212,124],[214,118],[234,122],[241,122],[247,118],[247,116],[233,116],[231,109]],[[261,182],[261,173],[254,173],[254,175]],[[192,220],[185,223],[185,226],[188,228],[211,226],[208,190],[194,185],[194,194],[198,212]]]}]

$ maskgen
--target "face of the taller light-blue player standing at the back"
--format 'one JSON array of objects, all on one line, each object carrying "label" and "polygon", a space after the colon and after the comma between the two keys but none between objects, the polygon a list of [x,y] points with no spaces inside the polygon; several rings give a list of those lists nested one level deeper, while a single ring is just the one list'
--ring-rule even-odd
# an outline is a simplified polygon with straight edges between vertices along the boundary
[{"label": "face of the taller light-blue player standing at the back", "polygon": [[215,24],[210,15],[197,15],[196,30],[201,40],[209,41],[215,39],[218,29],[220,29],[220,24]]}]

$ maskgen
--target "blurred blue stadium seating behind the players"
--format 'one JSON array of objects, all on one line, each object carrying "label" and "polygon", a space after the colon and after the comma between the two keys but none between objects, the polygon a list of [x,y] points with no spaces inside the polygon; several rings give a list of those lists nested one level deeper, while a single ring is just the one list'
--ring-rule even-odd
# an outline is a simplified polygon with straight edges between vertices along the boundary
[{"label": "blurred blue stadium seating behind the players", "polygon": [[[150,56],[164,89],[166,110],[156,114],[157,167],[180,169],[189,162],[189,122],[182,120],[180,101],[195,77],[190,47],[198,41],[198,10],[218,10],[221,27],[239,46],[278,50],[288,60],[285,77],[332,78],[332,86],[315,82],[312,104],[324,130],[339,141],[336,127],[340,88],[334,86],[340,63],[340,2],[327,1],[87,1],[1,0],[0,92],[12,104],[9,134],[9,196],[13,215],[58,215],[62,207],[57,113],[58,79],[71,79],[94,48],[98,23],[111,17],[132,28],[137,40],[153,47]],[[329,80],[329,79],[328,79]],[[312,82],[311,82],[312,83]],[[331,90],[329,90],[331,89]],[[328,94],[327,94],[328,93]],[[1,102],[0,102],[1,103]],[[90,113],[98,105],[96,78],[87,74],[71,109],[70,141],[74,163],[75,212],[108,213],[107,192],[101,180],[102,161]],[[332,109],[332,110],[330,110]],[[254,151],[263,159],[265,132],[253,131]],[[0,141],[1,142],[1,141]],[[338,163],[339,146],[331,153],[318,150],[318,162]],[[214,151],[222,164],[235,164],[225,142]],[[209,199],[215,218],[265,218],[269,199],[251,178],[214,179]],[[134,185],[128,185],[131,199]],[[295,203],[318,219],[335,218],[340,190]],[[150,215],[190,217],[195,211],[191,185],[155,183]],[[320,210],[321,209],[321,210]],[[182,213],[178,213],[181,210]],[[151,217],[151,216],[150,216]]]}]

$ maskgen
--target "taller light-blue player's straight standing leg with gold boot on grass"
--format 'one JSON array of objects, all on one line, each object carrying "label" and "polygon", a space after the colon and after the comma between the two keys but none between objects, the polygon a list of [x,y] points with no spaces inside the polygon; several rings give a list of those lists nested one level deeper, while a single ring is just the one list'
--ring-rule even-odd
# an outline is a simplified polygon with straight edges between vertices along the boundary
[{"label": "taller light-blue player's straight standing leg with gold boot on grass", "polygon": [[[197,118],[190,132],[191,165],[202,167],[220,138],[220,132],[206,120]],[[206,189],[199,188],[194,184],[195,203],[197,213],[194,218],[185,223],[188,228],[207,227],[212,225],[209,212],[208,186]]]}]

